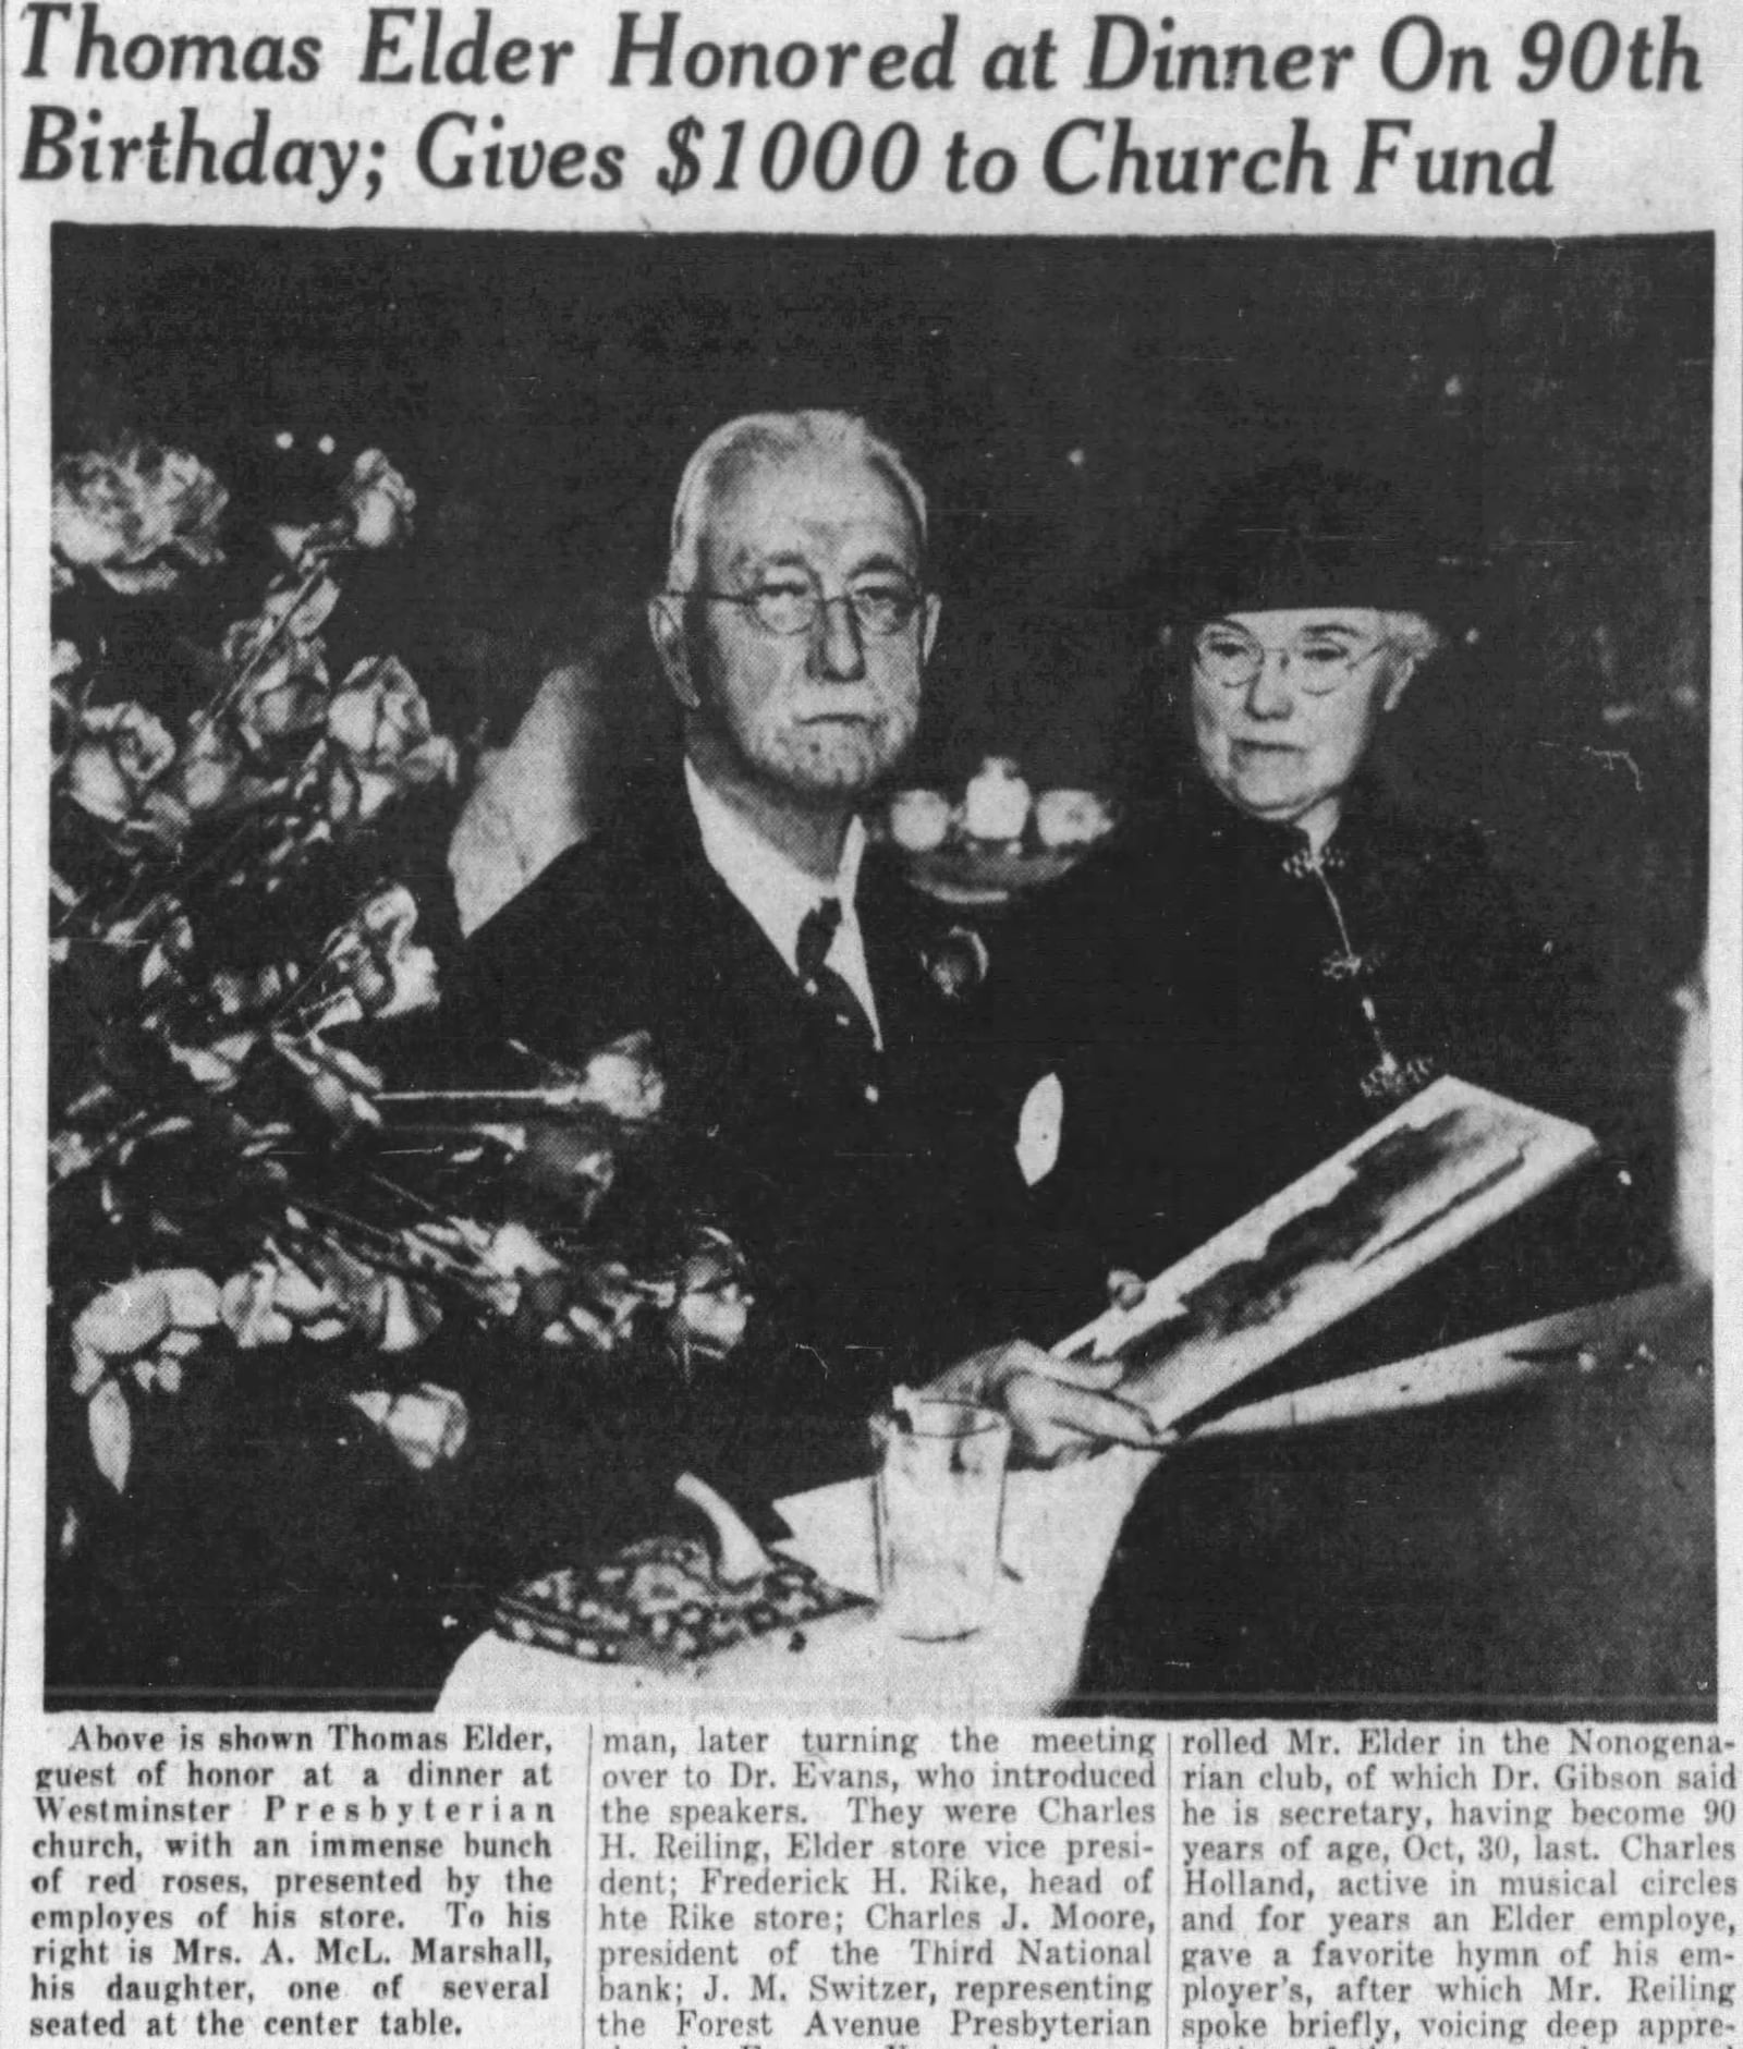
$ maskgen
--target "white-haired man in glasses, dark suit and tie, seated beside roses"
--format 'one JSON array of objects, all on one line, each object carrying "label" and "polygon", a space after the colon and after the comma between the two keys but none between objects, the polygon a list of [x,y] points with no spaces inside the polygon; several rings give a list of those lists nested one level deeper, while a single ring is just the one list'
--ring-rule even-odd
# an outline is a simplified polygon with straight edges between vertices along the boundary
[{"label": "white-haired man in glasses, dark suit and tie, seated beside roses", "polygon": [[[750,1256],[748,1356],[688,1426],[647,1418],[651,1479],[690,1463],[754,1500],[840,1473],[895,1381],[1020,1322],[1016,1115],[952,971],[977,947],[858,820],[920,719],[926,527],[911,469],[856,418],[711,434],[649,602],[682,754],[473,936],[455,996],[553,1059],[649,1031],[692,1186]],[[1073,1426],[1145,1436],[1094,1373],[1043,1367],[1008,1346],[952,1387],[1006,1395],[1040,1455]]]}]

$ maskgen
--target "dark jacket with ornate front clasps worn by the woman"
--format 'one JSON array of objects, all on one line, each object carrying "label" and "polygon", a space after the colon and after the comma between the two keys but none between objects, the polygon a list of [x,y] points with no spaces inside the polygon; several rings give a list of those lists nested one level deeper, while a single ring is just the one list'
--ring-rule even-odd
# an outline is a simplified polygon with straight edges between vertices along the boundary
[{"label": "dark jacket with ornate front clasps worn by the woman", "polygon": [[1368,1088],[1376,1031],[1403,1094],[1458,1074],[1596,1121],[1561,1051],[1583,992],[1475,830],[1358,785],[1323,879],[1303,848],[1194,775],[1006,955],[1008,1010],[1069,992],[1030,1029],[1065,1080],[1047,1197],[1145,1272],[1395,1109]]}]

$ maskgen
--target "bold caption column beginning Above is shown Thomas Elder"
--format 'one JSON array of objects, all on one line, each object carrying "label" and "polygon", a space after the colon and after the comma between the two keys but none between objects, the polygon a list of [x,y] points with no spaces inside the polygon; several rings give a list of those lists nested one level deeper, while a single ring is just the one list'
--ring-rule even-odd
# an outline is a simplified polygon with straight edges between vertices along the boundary
[{"label": "bold caption column beginning Above is shown Thomas Elder", "polygon": [[539,2043],[573,2012],[582,1729],[387,1719],[47,1731],[33,2037]]}]

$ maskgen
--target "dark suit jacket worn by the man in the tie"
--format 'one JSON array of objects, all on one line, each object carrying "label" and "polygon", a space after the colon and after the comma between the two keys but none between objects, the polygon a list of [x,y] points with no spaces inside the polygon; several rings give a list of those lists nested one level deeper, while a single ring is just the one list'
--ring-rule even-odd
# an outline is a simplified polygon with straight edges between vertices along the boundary
[{"label": "dark suit jacket worn by the man in the tie", "polygon": [[457,1055],[496,1059],[498,1076],[504,1039],[582,1063],[649,1031],[670,1129],[664,1195],[643,1195],[703,1203],[750,1258],[746,1348],[688,1414],[643,1418],[653,1486],[682,1465],[748,1500],[840,1477],[895,1381],[1032,1313],[1014,1106],[977,994],[946,996],[928,967],[956,916],[875,852],[858,916],[883,1031],[877,1100],[709,867],[676,777],[498,912],[447,1000]]}]

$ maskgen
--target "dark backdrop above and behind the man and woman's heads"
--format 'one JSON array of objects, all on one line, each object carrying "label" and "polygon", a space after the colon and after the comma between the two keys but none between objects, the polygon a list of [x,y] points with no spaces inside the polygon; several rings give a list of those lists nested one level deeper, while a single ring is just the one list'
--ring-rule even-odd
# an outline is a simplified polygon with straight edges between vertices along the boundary
[{"label": "dark backdrop above and behind the man and woman's heads", "polygon": [[1243,471],[1383,469],[1483,566],[1481,637],[1417,682],[1387,772],[1485,826],[1544,930],[1596,961],[1618,1057],[1663,1059],[1704,920],[1708,238],[61,227],[53,262],[57,447],[119,426],[190,447],[240,537],[387,449],[418,539],[352,629],[408,658],[440,725],[494,742],[541,674],[594,656],[627,744],[651,744],[641,598],[686,455],[735,412],[864,410],[928,486],[946,609],[920,768],[940,777],[997,750],[1141,793],[1174,744],[1151,635],[1170,547]]}]

